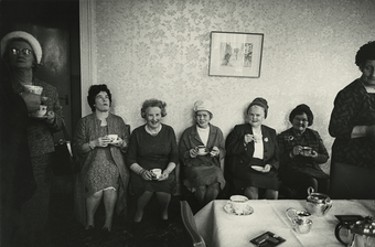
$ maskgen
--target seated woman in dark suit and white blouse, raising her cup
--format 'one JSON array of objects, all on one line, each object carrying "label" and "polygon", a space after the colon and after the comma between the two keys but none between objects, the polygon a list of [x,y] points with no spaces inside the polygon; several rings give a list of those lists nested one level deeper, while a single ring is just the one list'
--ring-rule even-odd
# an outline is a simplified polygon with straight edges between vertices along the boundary
[{"label": "seated woman in dark suit and white blouse, raising her cup", "polygon": [[278,197],[278,146],[275,129],[262,125],[267,111],[266,99],[254,99],[246,111],[249,122],[235,126],[226,140],[231,176],[251,200],[258,198],[258,189],[266,190],[266,198]]}]

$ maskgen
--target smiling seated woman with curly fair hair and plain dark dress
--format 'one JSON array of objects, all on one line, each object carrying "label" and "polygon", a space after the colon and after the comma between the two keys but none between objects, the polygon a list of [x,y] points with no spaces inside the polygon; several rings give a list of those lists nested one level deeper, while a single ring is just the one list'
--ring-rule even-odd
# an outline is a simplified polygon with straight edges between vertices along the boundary
[{"label": "smiling seated woman with curly fair hair and plain dark dress", "polygon": [[[135,129],[130,137],[127,164],[132,171],[130,182],[137,197],[135,223],[141,222],[143,208],[153,193],[161,206],[161,218],[167,223],[171,194],[176,189],[173,170],[179,151],[173,128],[161,124],[167,115],[165,106],[158,99],[146,100],[141,108],[146,125]],[[152,169],[162,170],[159,179]]]}]

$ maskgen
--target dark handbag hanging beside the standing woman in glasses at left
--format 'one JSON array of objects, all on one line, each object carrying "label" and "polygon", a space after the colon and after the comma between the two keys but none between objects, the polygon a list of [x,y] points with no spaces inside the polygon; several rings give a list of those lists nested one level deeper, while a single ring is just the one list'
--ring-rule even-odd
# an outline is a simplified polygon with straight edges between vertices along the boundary
[{"label": "dark handbag hanging beside the standing woman in glasses at left", "polygon": [[63,132],[64,139],[60,139],[55,143],[55,152],[52,154],[52,171],[55,176],[72,175],[81,171],[79,162],[73,155],[71,138],[67,135],[64,121]]}]

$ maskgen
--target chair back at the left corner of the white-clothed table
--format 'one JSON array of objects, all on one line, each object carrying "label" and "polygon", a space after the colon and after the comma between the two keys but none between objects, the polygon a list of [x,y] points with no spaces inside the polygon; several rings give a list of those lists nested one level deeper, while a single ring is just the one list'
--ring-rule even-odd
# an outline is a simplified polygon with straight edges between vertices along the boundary
[{"label": "chair back at the left corner of the white-clothed table", "polygon": [[182,223],[192,239],[192,246],[206,247],[204,239],[197,232],[196,224],[194,221],[194,215],[189,203],[186,201],[180,201],[180,205],[181,205]]}]

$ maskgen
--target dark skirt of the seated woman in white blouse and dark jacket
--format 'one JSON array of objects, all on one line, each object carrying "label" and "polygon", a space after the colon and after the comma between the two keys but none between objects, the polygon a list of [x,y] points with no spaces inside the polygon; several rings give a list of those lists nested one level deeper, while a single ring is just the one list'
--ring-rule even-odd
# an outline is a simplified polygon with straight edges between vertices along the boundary
[{"label": "dark skirt of the seated woman in white blouse and dark jacket", "polygon": [[264,167],[262,161],[259,159],[253,159],[250,164],[236,163],[232,170],[233,179],[238,180],[244,187],[253,186],[266,190],[279,190],[278,172],[275,168],[264,173],[254,170],[251,165]]}]

